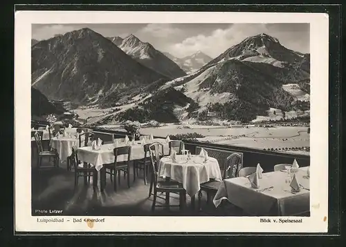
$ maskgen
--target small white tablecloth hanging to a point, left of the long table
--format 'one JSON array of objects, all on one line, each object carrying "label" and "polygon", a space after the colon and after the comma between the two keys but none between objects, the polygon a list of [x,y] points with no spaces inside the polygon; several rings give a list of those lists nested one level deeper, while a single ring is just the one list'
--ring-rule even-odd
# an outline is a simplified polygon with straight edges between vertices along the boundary
[{"label": "small white tablecloth hanging to a point, left of the long table", "polygon": [[51,139],[51,147],[57,150],[61,161],[66,161],[67,157],[72,155],[73,146],[78,146],[78,139],[75,137],[53,137]]}]

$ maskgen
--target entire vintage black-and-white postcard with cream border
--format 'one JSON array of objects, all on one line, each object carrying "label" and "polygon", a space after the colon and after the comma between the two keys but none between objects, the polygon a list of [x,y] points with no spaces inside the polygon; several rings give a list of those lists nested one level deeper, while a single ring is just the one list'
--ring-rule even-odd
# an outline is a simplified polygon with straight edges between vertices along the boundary
[{"label": "entire vintage black-and-white postcard with cream border", "polygon": [[15,231],[326,233],[328,37],[323,13],[16,12]]}]

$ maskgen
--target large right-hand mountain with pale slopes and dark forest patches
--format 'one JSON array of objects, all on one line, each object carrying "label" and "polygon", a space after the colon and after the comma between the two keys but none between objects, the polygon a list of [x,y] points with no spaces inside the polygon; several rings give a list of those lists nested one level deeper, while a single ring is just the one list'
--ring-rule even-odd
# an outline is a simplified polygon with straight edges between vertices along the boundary
[{"label": "large right-hand mountain with pale slopes and dark forest patches", "polygon": [[[309,55],[259,34],[229,48],[196,72],[167,81],[155,93],[147,94],[140,106],[115,112],[114,119],[206,120],[212,113],[219,119],[252,121],[266,116],[271,108],[309,109],[309,77]],[[300,85],[305,89],[298,90]]]}]

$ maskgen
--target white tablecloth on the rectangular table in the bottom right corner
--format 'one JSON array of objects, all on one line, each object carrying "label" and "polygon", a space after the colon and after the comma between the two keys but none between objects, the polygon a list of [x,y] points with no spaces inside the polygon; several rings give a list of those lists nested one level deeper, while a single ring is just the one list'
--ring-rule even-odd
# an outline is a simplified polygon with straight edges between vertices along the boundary
[{"label": "white tablecloth on the rectangular table in the bottom right corner", "polygon": [[[309,179],[305,177],[307,167],[299,168],[295,176],[304,188],[310,188]],[[242,208],[251,215],[298,215],[309,210],[309,190],[301,188],[297,194],[291,193],[291,187],[286,184],[286,172],[266,172],[259,179],[260,188],[251,187],[246,177],[235,177],[222,181],[213,200],[219,206],[223,199],[228,199],[231,204]],[[272,190],[264,190],[273,186]]]}]

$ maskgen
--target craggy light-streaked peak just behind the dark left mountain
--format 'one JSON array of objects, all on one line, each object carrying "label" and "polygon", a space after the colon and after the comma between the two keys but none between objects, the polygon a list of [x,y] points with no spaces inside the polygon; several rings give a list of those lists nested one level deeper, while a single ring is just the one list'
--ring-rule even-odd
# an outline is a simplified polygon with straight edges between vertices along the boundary
[{"label": "craggy light-streaked peak just behind the dark left mountain", "polygon": [[170,79],[186,75],[174,61],[156,50],[150,43],[140,41],[134,34],[126,37],[118,47],[139,63]]}]

